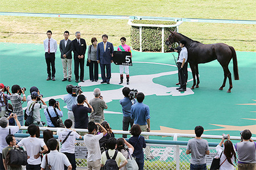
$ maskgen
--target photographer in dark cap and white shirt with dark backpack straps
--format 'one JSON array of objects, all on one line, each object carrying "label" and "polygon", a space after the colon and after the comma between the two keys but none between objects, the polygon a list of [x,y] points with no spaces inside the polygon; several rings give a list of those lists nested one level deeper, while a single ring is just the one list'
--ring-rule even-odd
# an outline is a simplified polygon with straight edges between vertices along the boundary
[{"label": "photographer in dark cap and white shirt with dark backpack straps", "polygon": [[[43,105],[39,103],[39,101],[42,101]],[[33,105],[34,105],[33,124],[39,127],[43,127],[43,124],[41,122],[41,117],[40,117],[40,109],[47,108],[47,105],[43,101],[42,96],[38,96],[38,93],[35,91],[31,93],[31,101],[28,101],[27,103],[28,112],[31,112]]]}]

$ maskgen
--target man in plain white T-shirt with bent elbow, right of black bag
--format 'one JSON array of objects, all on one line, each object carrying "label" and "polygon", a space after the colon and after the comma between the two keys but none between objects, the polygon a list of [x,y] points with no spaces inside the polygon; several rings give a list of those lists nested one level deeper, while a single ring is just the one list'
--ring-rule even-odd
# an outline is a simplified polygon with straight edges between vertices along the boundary
[{"label": "man in plain white T-shirt with bent elbow, right of black bag", "polygon": [[[48,151],[48,148],[46,146],[46,143],[44,143],[43,139],[36,138],[35,134],[38,131],[36,125],[31,124],[30,126],[28,126],[27,131],[30,134],[30,137],[23,138],[17,146],[24,146],[26,148],[28,156],[26,169],[40,169],[40,155],[46,153]],[[44,148],[43,151],[41,151],[41,147]]]}]

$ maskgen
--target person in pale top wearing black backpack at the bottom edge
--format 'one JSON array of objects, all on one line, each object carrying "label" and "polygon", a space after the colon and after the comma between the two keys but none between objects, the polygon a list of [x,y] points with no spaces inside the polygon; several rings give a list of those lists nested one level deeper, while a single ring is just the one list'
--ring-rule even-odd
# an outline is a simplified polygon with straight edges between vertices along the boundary
[{"label": "person in pale top wearing black backpack at the bottom edge", "polygon": [[[101,155],[101,167],[103,169],[119,169],[124,167],[127,164],[127,160],[121,152],[115,150],[117,139],[109,138],[106,144],[109,150]],[[122,165],[119,165],[121,162],[123,162]]]}]

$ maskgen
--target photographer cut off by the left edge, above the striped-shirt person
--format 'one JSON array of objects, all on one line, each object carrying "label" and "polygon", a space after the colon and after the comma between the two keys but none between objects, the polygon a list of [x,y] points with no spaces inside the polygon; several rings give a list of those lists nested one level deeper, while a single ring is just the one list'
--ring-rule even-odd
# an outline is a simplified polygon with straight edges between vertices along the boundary
[{"label": "photographer cut off by the left edge, above the striped-shirt person", "polygon": [[[7,92],[7,94],[5,94],[5,91]],[[8,100],[10,100],[10,95],[10,87],[5,87],[3,83],[0,83],[0,118],[5,116],[7,112]]]}]

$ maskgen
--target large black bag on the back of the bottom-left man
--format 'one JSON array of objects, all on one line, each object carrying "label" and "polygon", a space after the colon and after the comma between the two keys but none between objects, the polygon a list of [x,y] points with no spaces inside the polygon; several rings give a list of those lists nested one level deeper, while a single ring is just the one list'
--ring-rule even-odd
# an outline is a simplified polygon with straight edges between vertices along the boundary
[{"label": "large black bag on the back of the bottom-left man", "polygon": [[11,167],[27,165],[27,152],[21,147],[14,147],[6,154],[6,163]]}]

